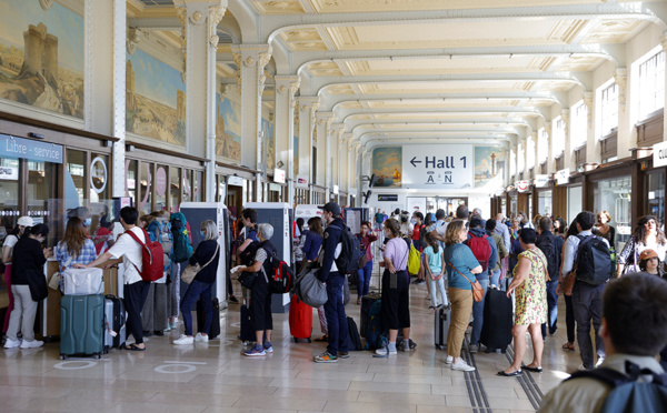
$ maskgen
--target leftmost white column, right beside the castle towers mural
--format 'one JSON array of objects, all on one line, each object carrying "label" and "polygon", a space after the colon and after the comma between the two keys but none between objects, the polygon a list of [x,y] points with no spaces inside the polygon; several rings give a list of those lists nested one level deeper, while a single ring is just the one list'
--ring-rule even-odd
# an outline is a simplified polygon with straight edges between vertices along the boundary
[{"label": "leftmost white column, right beside the castle towers mural", "polygon": [[125,197],[126,0],[86,0],[84,127],[112,135],[111,197]]}]

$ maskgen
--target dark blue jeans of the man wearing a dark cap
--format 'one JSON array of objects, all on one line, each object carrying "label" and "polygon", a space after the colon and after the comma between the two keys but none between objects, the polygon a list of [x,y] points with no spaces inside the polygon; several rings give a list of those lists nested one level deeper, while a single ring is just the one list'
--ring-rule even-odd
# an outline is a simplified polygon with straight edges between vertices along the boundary
[{"label": "dark blue jeans of the man wearing a dark cap", "polygon": [[338,272],[329,273],[327,279],[328,300],[325,303],[325,314],[327,315],[327,330],[329,330],[329,354],[338,355],[338,352],[347,353],[347,315],[345,305],[342,305],[342,283],[346,278]]}]

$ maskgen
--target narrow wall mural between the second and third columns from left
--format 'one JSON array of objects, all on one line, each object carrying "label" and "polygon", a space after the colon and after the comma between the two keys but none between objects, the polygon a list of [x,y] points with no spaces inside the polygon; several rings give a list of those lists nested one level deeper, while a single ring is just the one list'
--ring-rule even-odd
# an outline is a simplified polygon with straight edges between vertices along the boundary
[{"label": "narrow wall mural between the second and third columns from left", "polygon": [[241,108],[216,93],[216,155],[241,161]]}]

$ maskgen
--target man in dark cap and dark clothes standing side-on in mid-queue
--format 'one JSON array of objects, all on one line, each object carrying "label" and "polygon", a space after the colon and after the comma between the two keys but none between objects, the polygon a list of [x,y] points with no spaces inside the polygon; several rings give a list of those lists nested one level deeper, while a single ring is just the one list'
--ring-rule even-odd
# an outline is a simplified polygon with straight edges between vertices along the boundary
[{"label": "man in dark cap and dark clothes standing side-on in mid-queue", "polygon": [[336,202],[329,202],[318,208],[323,210],[322,218],[327,222],[325,241],[318,258],[318,261],[322,263],[318,279],[327,284],[328,301],[325,304],[325,315],[329,332],[329,345],[313,360],[316,363],[336,363],[338,357],[350,356],[347,346],[347,315],[342,301],[342,286],[346,279],[345,274],[340,273],[336,266],[336,259],[342,251],[342,231],[346,231],[346,226],[340,218],[340,206]]}]

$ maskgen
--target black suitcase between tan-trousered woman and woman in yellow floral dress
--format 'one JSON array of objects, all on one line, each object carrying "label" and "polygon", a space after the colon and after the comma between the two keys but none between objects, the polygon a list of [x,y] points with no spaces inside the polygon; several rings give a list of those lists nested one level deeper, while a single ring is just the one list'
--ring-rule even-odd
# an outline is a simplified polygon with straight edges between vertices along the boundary
[{"label": "black suitcase between tan-trousered woman and woman in yellow floral dress", "polygon": [[487,347],[487,353],[500,350],[502,353],[511,343],[514,324],[511,299],[505,291],[488,290],[484,303],[484,324],[479,342]]}]

